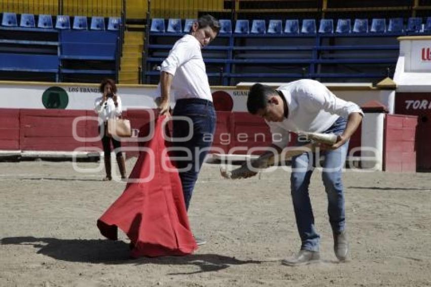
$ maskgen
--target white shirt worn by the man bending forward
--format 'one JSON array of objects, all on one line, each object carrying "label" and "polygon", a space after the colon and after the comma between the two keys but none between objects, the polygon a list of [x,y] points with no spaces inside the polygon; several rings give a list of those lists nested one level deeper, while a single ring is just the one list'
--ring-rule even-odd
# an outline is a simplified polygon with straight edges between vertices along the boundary
[{"label": "white shirt worn by the man bending forward", "polygon": [[[282,122],[267,122],[273,134],[273,144],[288,145],[289,131],[323,132],[339,118],[361,113],[361,108],[350,101],[337,98],[325,85],[314,80],[299,80],[278,87],[288,105],[288,118]],[[274,134],[277,134],[274,136]]]}]

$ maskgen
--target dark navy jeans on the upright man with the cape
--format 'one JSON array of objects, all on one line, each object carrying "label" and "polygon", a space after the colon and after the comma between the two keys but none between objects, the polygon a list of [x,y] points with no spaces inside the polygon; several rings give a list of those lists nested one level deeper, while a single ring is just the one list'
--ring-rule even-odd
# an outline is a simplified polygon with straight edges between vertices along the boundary
[{"label": "dark navy jeans on the upright man with the cape", "polygon": [[[176,101],[172,116],[174,117],[172,146],[190,151],[190,153],[174,151],[186,208],[189,209],[200,168],[213,140],[216,119],[214,105],[210,101],[199,98],[179,99]],[[189,118],[192,124],[185,120],[175,119],[179,116]],[[191,135],[190,139],[178,140],[178,138],[188,135]]]}]

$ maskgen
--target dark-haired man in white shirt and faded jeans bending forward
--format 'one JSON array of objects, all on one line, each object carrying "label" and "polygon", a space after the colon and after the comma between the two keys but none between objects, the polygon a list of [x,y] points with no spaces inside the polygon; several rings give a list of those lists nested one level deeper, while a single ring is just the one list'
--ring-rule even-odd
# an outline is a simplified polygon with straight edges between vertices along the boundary
[{"label": "dark-haired man in white shirt and faded jeans bending forward", "polygon": [[[340,261],[344,261],[348,253],[348,241],[341,175],[348,141],[362,121],[362,110],[353,102],[337,98],[325,85],[313,80],[294,81],[278,89],[255,84],[248,93],[247,109],[249,113],[264,118],[273,134],[272,151],[261,155],[258,162],[274,150],[281,153],[289,143],[290,131],[338,135],[333,146],[321,146],[325,150],[322,152],[325,156],[322,180],[328,196],[334,252]],[[304,145],[304,142],[298,142],[297,145]],[[291,194],[302,244],[295,257],[282,261],[285,265],[296,266],[320,260],[320,236],[314,227],[308,195],[312,172],[313,153],[307,152],[292,158]]]}]

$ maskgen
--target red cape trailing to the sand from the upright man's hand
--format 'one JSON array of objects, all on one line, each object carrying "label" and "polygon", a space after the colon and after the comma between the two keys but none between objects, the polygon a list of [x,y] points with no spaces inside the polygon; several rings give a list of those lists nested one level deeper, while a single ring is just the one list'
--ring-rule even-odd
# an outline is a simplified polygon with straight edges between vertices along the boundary
[{"label": "red cape trailing to the sand from the upright man's hand", "polygon": [[[143,128],[155,126],[154,136],[143,145],[149,151],[140,151],[123,194],[97,221],[101,234],[109,239],[117,240],[117,227],[127,234],[132,257],[187,255],[197,249],[181,180],[166,153],[168,142],[162,134],[165,118],[159,117]],[[147,133],[141,129],[141,135]]]}]

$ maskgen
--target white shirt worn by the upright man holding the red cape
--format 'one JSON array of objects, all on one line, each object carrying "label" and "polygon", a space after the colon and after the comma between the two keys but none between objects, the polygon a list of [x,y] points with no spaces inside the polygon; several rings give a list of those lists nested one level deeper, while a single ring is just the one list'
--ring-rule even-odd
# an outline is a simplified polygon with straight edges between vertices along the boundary
[{"label": "white shirt worn by the upright man holding the red cape", "polygon": [[[171,87],[175,100],[202,98],[212,101],[201,47],[194,36],[185,35],[176,41],[161,70],[173,75]],[[160,91],[160,84],[158,88]]]}]

